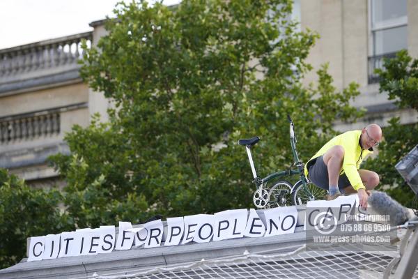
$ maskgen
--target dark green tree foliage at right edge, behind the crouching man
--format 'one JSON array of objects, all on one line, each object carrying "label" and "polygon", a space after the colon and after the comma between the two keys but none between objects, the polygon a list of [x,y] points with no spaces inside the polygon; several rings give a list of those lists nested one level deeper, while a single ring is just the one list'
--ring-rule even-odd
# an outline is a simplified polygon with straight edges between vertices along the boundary
[{"label": "dark green tree foliage at right edge, behind the crouching man", "polygon": [[[418,110],[418,60],[412,59],[406,50],[396,54],[394,59],[385,59],[380,75],[380,93],[387,92],[389,100],[395,100],[399,108]],[[412,206],[414,193],[396,172],[395,165],[418,141],[418,123],[401,125],[400,118],[394,117],[389,126],[383,128],[385,140],[379,145],[376,158],[366,161],[365,167],[380,174],[381,184],[389,195],[405,206]]]}]

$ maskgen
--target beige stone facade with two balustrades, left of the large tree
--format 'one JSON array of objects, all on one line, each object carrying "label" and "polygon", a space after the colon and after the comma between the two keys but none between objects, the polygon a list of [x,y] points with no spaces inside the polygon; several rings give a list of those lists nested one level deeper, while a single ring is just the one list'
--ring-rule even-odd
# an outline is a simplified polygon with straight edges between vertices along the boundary
[{"label": "beige stone facade with two balustrades, left of the large tree", "polygon": [[63,142],[74,124],[87,126],[107,100],[79,76],[82,40],[95,45],[102,22],[91,32],[0,50],[0,167],[32,186],[60,185],[47,157],[69,153]]}]

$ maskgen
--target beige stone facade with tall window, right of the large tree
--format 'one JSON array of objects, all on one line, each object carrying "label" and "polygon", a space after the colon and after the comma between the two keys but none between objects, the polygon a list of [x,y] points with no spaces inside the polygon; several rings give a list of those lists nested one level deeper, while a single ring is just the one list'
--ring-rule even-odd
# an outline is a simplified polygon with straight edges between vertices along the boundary
[{"label": "beige stone facade with tall window, right of the large tree", "polygon": [[[329,62],[334,86],[343,89],[350,82],[359,84],[355,107],[367,110],[357,123],[336,121],[338,130],[351,130],[375,122],[382,126],[393,116],[401,123],[417,122],[414,110],[398,110],[387,93],[379,93],[378,77],[373,73],[384,57],[407,49],[418,57],[418,2],[415,0],[296,0],[302,30],[308,27],[320,34],[308,62],[318,69]],[[306,84],[316,79],[314,71]]]}]

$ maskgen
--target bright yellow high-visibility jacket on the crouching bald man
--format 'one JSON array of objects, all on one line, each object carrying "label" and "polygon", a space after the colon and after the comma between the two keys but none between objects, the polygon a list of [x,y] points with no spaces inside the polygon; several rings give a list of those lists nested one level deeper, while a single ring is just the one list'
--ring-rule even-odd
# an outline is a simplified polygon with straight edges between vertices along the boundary
[{"label": "bright yellow high-visibility jacket on the crouching bald man", "polygon": [[344,149],[344,160],[340,169],[340,175],[346,173],[351,186],[355,190],[364,189],[365,187],[357,169],[360,168],[362,160],[370,153],[373,153],[373,149],[362,149],[362,146],[360,146],[360,135],[362,135],[362,130],[352,130],[332,138],[309,159],[304,167],[305,175],[308,177],[309,162],[312,159],[323,156],[332,146],[341,145]]}]

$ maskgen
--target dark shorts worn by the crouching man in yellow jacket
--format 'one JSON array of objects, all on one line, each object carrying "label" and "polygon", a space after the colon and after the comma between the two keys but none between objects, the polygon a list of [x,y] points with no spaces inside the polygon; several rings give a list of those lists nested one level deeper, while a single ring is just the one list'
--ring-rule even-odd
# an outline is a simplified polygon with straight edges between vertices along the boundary
[{"label": "dark shorts worn by the crouching man in yellow jacket", "polygon": [[[315,162],[313,162],[315,160]],[[308,177],[316,186],[328,190],[328,168],[324,163],[323,156],[313,159],[309,162]],[[338,179],[338,188],[343,189],[350,186],[350,181],[346,174],[341,174]]]}]

